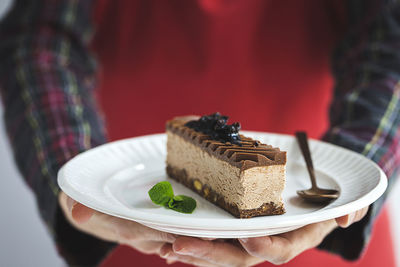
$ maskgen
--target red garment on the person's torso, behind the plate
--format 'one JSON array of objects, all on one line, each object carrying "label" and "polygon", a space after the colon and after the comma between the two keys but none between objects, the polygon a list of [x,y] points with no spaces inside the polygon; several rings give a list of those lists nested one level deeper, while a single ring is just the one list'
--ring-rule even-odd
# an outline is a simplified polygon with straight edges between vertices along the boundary
[{"label": "red garment on the person's torso, behind the plate", "polygon": [[[245,130],[303,129],[320,137],[328,127],[331,50],[346,25],[339,4],[99,1],[93,48],[102,64],[100,100],[110,138],[163,132],[174,116],[216,111]],[[394,266],[387,216],[378,226],[362,266]],[[165,261],[119,248],[104,266],[133,262]],[[311,250],[287,266],[305,264],[349,265]]]}]

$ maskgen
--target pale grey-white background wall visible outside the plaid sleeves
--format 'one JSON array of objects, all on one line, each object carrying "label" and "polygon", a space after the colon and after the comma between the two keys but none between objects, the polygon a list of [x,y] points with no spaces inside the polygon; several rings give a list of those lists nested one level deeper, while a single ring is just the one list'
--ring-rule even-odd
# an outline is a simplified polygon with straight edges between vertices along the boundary
[{"label": "pale grey-white background wall visible outside the plaid sleeves", "polygon": [[[0,0],[0,18],[11,2]],[[1,105],[0,117],[0,267],[64,266],[39,219],[33,194],[15,168],[4,131]],[[400,266],[400,183],[390,196],[389,206]]]}]

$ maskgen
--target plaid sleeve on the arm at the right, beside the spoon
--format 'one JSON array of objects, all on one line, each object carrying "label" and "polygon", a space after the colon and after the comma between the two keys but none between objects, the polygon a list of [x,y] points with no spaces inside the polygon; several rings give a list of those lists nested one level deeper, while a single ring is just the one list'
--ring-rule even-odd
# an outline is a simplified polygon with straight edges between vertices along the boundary
[{"label": "plaid sleeve on the arm at the right, beside the spoon", "polygon": [[370,158],[389,178],[388,190],[362,221],[333,231],[320,245],[354,260],[368,244],[400,166],[400,4],[345,2],[349,27],[333,54],[335,95],[324,140]]}]

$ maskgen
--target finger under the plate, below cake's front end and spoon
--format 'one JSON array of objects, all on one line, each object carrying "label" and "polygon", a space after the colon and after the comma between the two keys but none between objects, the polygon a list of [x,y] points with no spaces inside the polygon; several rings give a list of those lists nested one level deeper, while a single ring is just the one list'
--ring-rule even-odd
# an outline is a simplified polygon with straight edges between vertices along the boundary
[{"label": "finger under the plate, below cake's front end and spoon", "polygon": [[335,220],[329,220],[276,236],[239,239],[239,241],[250,255],[274,264],[283,264],[320,244],[335,227],[337,227]]}]

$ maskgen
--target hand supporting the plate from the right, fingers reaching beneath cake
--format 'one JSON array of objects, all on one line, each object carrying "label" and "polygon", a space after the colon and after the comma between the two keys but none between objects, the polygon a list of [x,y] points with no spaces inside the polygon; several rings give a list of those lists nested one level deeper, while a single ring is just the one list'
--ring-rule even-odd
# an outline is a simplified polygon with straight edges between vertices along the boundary
[{"label": "hand supporting the plate from the right, fingers reaching beneath cake", "polygon": [[368,207],[279,235],[239,239],[238,244],[179,237],[173,244],[164,244],[160,256],[168,263],[181,261],[196,266],[253,266],[264,261],[283,264],[318,246],[336,227],[348,227],[361,220],[367,211]]}]

